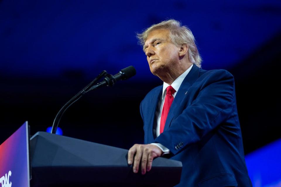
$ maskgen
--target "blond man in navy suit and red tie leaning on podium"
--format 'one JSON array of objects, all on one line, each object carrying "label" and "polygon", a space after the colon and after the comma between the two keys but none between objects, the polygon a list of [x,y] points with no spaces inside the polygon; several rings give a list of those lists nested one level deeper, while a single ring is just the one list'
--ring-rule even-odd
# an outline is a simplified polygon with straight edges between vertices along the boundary
[{"label": "blond man in navy suit and red tie leaning on podium", "polygon": [[165,154],[182,162],[177,186],[252,186],[237,114],[234,78],[202,70],[192,32],[176,20],[138,34],[150,71],[164,83],[140,104],[145,144],[128,151],[133,172]]}]

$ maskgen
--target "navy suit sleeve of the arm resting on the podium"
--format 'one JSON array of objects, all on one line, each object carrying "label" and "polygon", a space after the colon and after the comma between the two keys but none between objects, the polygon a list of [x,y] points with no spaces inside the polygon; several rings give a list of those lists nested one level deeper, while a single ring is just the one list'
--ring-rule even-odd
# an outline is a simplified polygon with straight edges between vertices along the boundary
[{"label": "navy suit sleeve of the arm resting on the podium", "polygon": [[172,120],[167,131],[155,139],[177,154],[185,146],[196,143],[227,120],[233,110],[234,78],[225,71],[211,73],[202,82],[191,105]]}]

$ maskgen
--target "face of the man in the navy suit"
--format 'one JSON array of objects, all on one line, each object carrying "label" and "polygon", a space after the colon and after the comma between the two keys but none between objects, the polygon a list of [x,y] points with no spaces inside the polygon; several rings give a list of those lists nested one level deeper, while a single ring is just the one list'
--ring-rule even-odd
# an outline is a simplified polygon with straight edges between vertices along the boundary
[{"label": "face of the man in the navy suit", "polygon": [[169,37],[169,31],[158,29],[150,32],[143,46],[150,71],[159,77],[177,70],[179,47]]}]

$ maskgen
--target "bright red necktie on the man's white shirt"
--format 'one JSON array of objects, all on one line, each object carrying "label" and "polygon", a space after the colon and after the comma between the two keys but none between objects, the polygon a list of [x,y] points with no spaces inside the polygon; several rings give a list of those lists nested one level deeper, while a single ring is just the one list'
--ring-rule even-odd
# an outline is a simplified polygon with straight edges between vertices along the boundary
[{"label": "bright red necktie on the man's white shirt", "polygon": [[160,134],[164,131],[167,116],[168,116],[170,107],[172,105],[172,102],[174,100],[173,94],[175,92],[176,92],[176,90],[172,86],[168,86],[166,89],[166,96],[165,96],[165,101],[164,101],[164,105],[162,108],[162,114],[161,114],[161,120],[160,120]]}]

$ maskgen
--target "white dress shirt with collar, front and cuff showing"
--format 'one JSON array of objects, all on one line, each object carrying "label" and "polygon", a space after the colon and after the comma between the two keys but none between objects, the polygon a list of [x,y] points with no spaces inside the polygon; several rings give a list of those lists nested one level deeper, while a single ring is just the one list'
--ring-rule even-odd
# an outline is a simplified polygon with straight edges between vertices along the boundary
[{"label": "white dress shirt with collar, front and cuff showing", "polygon": [[[174,80],[174,82],[171,84],[171,86],[175,89],[175,93],[173,94],[173,97],[175,98],[179,87],[181,86],[181,83],[183,82],[184,78],[186,77],[186,75],[190,72],[191,68],[192,68],[193,64],[183,73],[181,74],[176,80]],[[162,115],[162,109],[163,109],[163,105],[164,105],[164,101],[165,101],[165,97],[166,97],[166,89],[167,87],[170,86],[168,83],[164,82],[163,83],[163,91],[162,91],[162,97],[159,99],[158,102],[158,106],[155,112],[155,117],[158,116],[157,118],[157,128],[156,128],[156,136],[158,137],[160,135],[160,121],[161,121],[161,115]],[[163,146],[161,143],[151,143],[157,147],[159,147],[164,154],[170,153],[170,150],[168,148],[166,148],[165,146]]]}]

